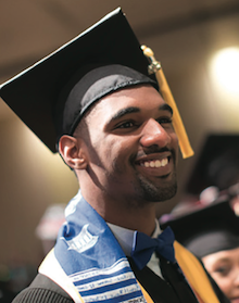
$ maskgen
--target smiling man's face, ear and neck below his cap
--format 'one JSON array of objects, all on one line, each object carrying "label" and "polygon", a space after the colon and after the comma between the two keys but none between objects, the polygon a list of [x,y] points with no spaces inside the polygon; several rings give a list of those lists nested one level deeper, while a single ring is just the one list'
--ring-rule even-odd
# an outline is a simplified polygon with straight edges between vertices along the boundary
[{"label": "smiling man's face, ear and neck below his cap", "polygon": [[153,232],[155,202],[174,197],[177,187],[172,115],[154,87],[137,85],[103,97],[74,137],[61,137],[60,153],[83,197],[108,223]]}]

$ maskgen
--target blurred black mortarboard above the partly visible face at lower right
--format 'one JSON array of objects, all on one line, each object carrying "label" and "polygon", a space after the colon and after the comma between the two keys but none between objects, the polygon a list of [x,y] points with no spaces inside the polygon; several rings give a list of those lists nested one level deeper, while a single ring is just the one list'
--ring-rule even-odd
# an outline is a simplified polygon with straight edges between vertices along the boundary
[{"label": "blurred black mortarboard above the partly visible face at lower right", "polygon": [[199,257],[239,247],[239,217],[228,200],[204,207],[197,205],[180,215],[172,213],[167,219],[163,216],[161,227],[167,226],[175,239]]}]

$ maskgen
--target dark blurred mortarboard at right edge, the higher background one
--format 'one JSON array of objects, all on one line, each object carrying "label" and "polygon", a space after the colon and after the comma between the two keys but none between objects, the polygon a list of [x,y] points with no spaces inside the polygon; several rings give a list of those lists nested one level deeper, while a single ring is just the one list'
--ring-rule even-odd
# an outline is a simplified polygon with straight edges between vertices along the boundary
[{"label": "dark blurred mortarboard at right edge, the higher background one", "polygon": [[198,195],[206,187],[215,186],[218,190],[224,190],[238,181],[239,135],[209,135],[189,174],[186,191]]}]

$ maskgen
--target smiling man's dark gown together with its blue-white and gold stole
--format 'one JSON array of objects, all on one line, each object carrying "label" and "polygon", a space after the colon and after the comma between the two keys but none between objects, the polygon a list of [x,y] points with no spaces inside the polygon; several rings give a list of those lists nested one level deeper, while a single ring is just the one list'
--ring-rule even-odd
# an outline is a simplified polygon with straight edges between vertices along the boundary
[{"label": "smiling man's dark gown together with its blue-white and gold stole", "polygon": [[[64,224],[62,230],[59,233],[59,239],[54,250],[48,254],[41,264],[39,268],[39,275],[33,281],[29,288],[21,292],[13,301],[14,303],[91,302],[92,299],[96,302],[100,302],[99,298],[101,296],[106,296],[106,302],[109,303],[122,301],[130,303],[229,302],[212,281],[212,279],[207,277],[205,269],[196,258],[196,256],[193,256],[178,242],[174,242],[174,248],[175,256],[180,267],[177,265],[177,263],[172,264],[167,263],[164,258],[160,260],[161,272],[164,276],[164,279],[162,279],[147,266],[142,268],[142,270],[138,270],[130,258],[127,261],[124,252],[122,251],[118,242],[112,235],[105,222],[83,199],[80,192],[72,200],[72,203],[70,202],[68,206],[71,212],[68,212],[70,215],[66,216],[67,223]],[[88,219],[89,214],[91,220]],[[77,230],[76,227],[78,228]],[[87,231],[88,227],[91,228],[90,232]],[[85,233],[83,233],[83,231]],[[71,240],[67,240],[67,237],[71,232],[74,233],[74,237],[71,238]],[[78,240],[79,237],[81,237],[81,233],[84,237],[87,236],[84,238],[86,241]],[[77,242],[73,242],[75,239]],[[83,240],[83,238],[80,238],[80,240]],[[83,243],[85,247],[87,245],[87,250],[85,250],[83,253],[79,253],[78,250],[80,250],[83,247],[75,245],[75,243]],[[92,250],[88,249],[89,244]],[[61,245],[63,245],[63,248]],[[90,252],[92,253],[90,254]],[[111,258],[113,258],[113,262],[111,262]],[[109,265],[105,268],[96,267],[96,265],[101,266],[101,264]],[[114,267],[112,267],[112,264]],[[126,282],[129,281],[129,287],[118,287],[118,264],[122,266],[121,270],[124,270],[122,272],[123,275],[121,277],[130,276],[130,279],[126,279]],[[73,275],[68,275],[64,270],[64,266],[66,266],[66,269],[67,266],[71,266]],[[102,286],[101,283],[101,274],[103,273],[104,276],[108,274],[111,275],[112,269],[113,276],[108,276],[109,278],[104,278],[103,280],[106,282],[104,288],[104,285]],[[77,274],[77,277],[75,273]],[[87,276],[85,273],[87,273]],[[84,280],[88,278],[88,274],[91,275],[92,287],[88,283],[88,281],[85,282]],[[96,274],[98,276],[96,276]],[[74,279],[75,277],[78,278],[77,281],[83,281],[83,287],[81,285],[78,287],[79,285],[74,283],[76,279],[71,280],[72,277]],[[109,283],[109,281],[113,280],[116,282]],[[95,285],[98,286],[98,288],[95,288]],[[111,287],[115,289],[115,291],[111,291],[111,293],[116,293],[116,295],[104,295],[105,291],[108,291]],[[96,294],[88,295],[88,292],[86,291],[88,289],[88,292],[95,291]],[[103,293],[100,292],[101,289],[104,291]],[[124,293],[121,292],[122,289],[126,289],[127,291],[129,290],[129,295],[134,293],[134,296],[131,295],[130,299],[125,299]],[[130,292],[131,289],[133,292]],[[102,300],[105,301],[105,299]]]}]

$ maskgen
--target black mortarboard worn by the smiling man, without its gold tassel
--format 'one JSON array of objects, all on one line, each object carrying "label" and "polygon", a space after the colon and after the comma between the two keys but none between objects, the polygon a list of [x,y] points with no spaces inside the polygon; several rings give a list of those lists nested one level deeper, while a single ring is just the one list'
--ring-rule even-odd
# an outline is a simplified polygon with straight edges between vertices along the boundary
[{"label": "black mortarboard worn by the smiling man, without its gold tassel", "polygon": [[[113,70],[117,77],[111,78],[110,85],[104,83],[105,87],[99,90],[95,84],[102,78],[102,73],[104,77],[111,77],[112,67],[102,67],[110,64],[115,64]],[[63,134],[72,135],[80,116],[99,98],[137,84],[150,83],[158,88],[156,81],[152,81],[148,76],[148,65],[149,62],[125,15],[117,9],[55,52],[0,86],[0,96],[45,144],[55,152],[58,138]],[[77,91],[85,97],[88,88],[95,86],[93,92],[90,91],[93,96],[88,96],[87,100],[85,98],[80,109],[79,103],[73,102],[64,112],[65,98],[71,88],[96,67],[101,70],[98,70],[98,75],[93,74],[98,77],[95,83],[91,81],[92,77],[88,77]],[[155,80],[154,75],[150,77]]]}]

